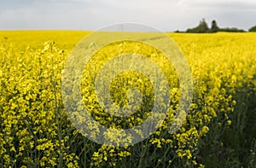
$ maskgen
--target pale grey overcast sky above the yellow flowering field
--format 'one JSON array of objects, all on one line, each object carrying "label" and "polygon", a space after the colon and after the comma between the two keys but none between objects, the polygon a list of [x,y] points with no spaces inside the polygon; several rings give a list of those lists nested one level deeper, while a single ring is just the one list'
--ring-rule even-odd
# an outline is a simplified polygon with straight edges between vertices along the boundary
[{"label": "pale grey overcast sky above the yellow flowering field", "polygon": [[185,31],[208,26],[245,30],[256,25],[255,0],[0,0],[0,30],[98,30],[121,22]]}]

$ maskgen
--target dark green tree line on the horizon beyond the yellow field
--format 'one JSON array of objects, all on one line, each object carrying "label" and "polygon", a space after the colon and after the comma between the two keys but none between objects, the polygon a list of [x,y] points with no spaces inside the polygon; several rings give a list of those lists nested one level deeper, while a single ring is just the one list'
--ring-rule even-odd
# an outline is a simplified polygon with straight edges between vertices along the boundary
[{"label": "dark green tree line on the horizon beyond the yellow field", "polygon": [[[179,31],[176,31],[179,32]],[[194,28],[187,29],[186,32],[194,32],[194,33],[205,33],[205,32],[246,32],[243,29],[238,29],[236,27],[226,27],[226,28],[220,28],[218,27],[217,21],[212,20],[212,26],[209,28],[207,26],[207,22],[205,19],[202,19],[198,26]],[[256,32],[256,26],[253,26],[248,30],[248,32]]]}]

